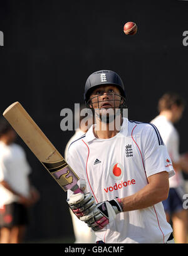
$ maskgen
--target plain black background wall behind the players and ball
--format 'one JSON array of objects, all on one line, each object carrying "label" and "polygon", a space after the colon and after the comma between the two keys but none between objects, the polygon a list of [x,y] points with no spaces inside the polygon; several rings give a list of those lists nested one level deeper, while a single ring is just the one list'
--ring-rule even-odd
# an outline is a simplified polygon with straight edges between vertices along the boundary
[{"label": "plain black background wall behind the players and ball", "polygon": [[[90,73],[109,69],[125,84],[129,119],[149,122],[167,90],[187,99],[188,46],[182,44],[187,13],[188,1],[1,1],[1,113],[21,102],[64,154],[74,132],[61,131],[61,109],[83,102]],[[137,35],[123,33],[127,21],[137,23]],[[186,118],[187,108],[176,125],[181,152],[187,151]],[[26,149],[41,193],[30,210],[26,241],[73,238],[66,193],[18,143]]]}]

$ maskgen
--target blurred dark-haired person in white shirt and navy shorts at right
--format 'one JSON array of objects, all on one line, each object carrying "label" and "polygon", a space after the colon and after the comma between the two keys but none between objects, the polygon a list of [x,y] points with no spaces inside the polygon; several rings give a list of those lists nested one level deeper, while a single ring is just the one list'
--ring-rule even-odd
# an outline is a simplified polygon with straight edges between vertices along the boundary
[{"label": "blurred dark-haired person in white shirt and navy shorts at right", "polygon": [[187,242],[187,210],[183,208],[184,178],[182,170],[188,171],[187,159],[179,153],[179,134],[174,124],[182,117],[185,100],[177,93],[169,92],[159,99],[159,115],[151,121],[167,147],[175,170],[175,176],[169,179],[169,197],[163,201],[167,221],[172,220],[176,243]]}]

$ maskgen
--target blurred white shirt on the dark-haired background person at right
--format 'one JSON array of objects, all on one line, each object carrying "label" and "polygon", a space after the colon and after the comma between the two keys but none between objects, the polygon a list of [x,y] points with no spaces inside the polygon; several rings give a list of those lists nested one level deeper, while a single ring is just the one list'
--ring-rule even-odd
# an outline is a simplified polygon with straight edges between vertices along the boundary
[{"label": "blurred white shirt on the dark-haired background person at right", "polygon": [[[167,120],[164,115],[158,115],[151,121],[151,123],[154,124],[159,130],[172,162],[177,163],[180,159],[179,134],[174,125],[172,122]],[[182,186],[184,184],[182,171],[175,168],[174,171],[175,176],[169,179],[170,188],[177,188],[178,186]]]}]

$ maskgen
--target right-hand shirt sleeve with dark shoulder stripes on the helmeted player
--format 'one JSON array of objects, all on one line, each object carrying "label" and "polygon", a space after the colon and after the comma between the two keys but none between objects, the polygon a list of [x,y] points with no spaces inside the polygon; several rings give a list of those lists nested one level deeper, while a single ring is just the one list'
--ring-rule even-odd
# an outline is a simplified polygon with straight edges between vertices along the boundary
[{"label": "right-hand shirt sleeve with dark shoulder stripes on the helmeted player", "polygon": [[148,134],[148,136],[144,136],[146,142],[143,156],[147,177],[162,171],[167,171],[169,178],[174,176],[172,161],[159,131],[153,126]]}]

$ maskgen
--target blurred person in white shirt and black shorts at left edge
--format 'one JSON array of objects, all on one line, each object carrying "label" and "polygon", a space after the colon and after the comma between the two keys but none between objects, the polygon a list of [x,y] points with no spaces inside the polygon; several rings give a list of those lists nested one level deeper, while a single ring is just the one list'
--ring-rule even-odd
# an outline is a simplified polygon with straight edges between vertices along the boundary
[{"label": "blurred person in white shirt and black shorts at left edge", "polygon": [[23,242],[28,225],[28,207],[39,193],[31,186],[31,168],[22,147],[15,144],[16,132],[0,119],[0,243]]}]

